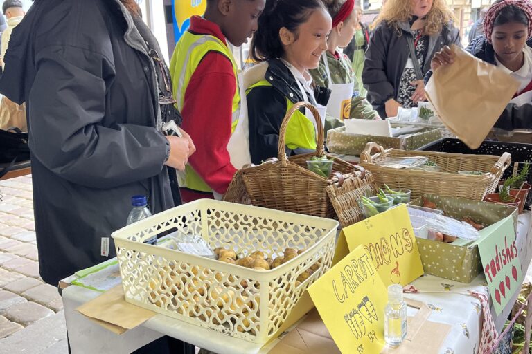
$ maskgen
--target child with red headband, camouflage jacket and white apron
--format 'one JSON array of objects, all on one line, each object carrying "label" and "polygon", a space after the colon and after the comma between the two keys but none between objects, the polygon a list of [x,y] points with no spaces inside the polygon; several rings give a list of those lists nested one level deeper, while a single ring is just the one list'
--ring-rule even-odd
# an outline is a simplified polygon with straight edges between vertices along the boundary
[{"label": "child with red headband, camouflage jacket and white apron", "polygon": [[[315,84],[332,90],[327,113],[342,119],[380,119],[364,96],[360,96],[359,93],[353,95],[358,82],[351,67],[351,60],[337,50],[337,48],[346,48],[355,34],[357,24],[355,1],[324,0],[323,2],[332,17],[332,31],[327,39],[328,49],[321,55],[319,66],[310,70],[310,75]],[[332,118],[328,118],[328,122],[332,122]],[[339,120],[337,122],[340,123]]]}]

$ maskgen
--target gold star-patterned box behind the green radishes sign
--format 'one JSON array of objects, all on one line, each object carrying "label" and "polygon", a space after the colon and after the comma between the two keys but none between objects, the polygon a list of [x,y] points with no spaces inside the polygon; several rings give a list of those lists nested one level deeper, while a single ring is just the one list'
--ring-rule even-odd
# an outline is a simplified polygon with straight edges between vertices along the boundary
[{"label": "gold star-patterned box behind the green radishes sign", "polygon": [[[435,203],[437,209],[443,210],[445,216],[457,220],[463,220],[468,216],[484,227],[493,225],[511,215],[514,229],[517,230],[517,208],[515,207],[434,194],[425,194],[422,198]],[[411,201],[410,204],[423,205],[422,198]],[[460,239],[454,243],[416,239],[425,273],[461,283],[470,283],[482,272],[477,243],[487,237],[496,236],[497,230],[493,232],[480,230],[480,234],[480,238],[472,243]]]}]

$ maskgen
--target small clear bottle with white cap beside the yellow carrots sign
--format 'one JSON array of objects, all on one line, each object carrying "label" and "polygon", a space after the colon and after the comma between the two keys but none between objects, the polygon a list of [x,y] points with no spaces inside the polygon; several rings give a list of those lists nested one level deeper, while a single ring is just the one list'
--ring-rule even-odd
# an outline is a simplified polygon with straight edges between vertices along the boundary
[{"label": "small clear bottle with white cap beside the yellow carrots sign", "polygon": [[407,303],[402,299],[402,286],[388,287],[388,304],[384,308],[384,340],[392,346],[401,344],[407,335]]}]

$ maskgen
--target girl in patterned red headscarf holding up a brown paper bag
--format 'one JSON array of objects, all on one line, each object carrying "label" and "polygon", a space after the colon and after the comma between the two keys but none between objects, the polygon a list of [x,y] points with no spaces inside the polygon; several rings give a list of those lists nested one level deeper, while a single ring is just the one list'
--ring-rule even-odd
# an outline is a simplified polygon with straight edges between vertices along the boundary
[{"label": "girl in patterned red headscarf holding up a brown paper bag", "polygon": [[[529,0],[495,1],[484,17],[484,36],[468,46],[475,57],[496,65],[519,80],[520,87],[495,123],[513,130],[532,128],[532,4]],[[454,53],[445,47],[434,55],[432,69],[452,64]]]}]

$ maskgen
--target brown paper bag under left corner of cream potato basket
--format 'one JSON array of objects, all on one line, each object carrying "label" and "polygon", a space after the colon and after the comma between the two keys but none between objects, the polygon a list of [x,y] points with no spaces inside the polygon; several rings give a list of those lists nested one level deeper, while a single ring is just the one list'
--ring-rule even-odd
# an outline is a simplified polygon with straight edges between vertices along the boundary
[{"label": "brown paper bag under left corner of cream potato basket", "polygon": [[126,302],[121,285],[78,306],[76,311],[118,335],[156,315],[153,311]]}]

